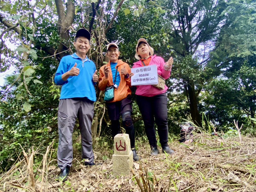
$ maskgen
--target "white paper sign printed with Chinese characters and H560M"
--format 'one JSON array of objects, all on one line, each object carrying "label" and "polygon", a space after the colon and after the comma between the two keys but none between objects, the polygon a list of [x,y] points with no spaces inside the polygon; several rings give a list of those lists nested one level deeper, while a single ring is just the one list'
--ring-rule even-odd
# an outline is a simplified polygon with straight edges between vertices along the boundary
[{"label": "white paper sign printed with Chinese characters and H560M", "polygon": [[156,65],[131,68],[134,75],[131,77],[131,85],[154,85],[158,83]]}]

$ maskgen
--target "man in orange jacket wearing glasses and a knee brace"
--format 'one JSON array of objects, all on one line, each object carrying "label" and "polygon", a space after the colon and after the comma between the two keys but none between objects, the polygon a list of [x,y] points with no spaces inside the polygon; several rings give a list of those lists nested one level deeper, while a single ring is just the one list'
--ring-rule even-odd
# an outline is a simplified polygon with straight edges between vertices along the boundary
[{"label": "man in orange jacket wearing glasses and a knee brace", "polygon": [[118,59],[120,52],[115,43],[107,46],[107,57],[110,61],[100,68],[99,89],[105,90],[106,87],[114,85],[114,98],[106,102],[109,119],[111,120],[111,130],[113,137],[120,133],[119,118],[122,115],[122,123],[131,142],[133,160],[138,161],[140,157],[135,150],[135,131],[131,118],[132,100],[131,100],[131,73],[130,66]]}]

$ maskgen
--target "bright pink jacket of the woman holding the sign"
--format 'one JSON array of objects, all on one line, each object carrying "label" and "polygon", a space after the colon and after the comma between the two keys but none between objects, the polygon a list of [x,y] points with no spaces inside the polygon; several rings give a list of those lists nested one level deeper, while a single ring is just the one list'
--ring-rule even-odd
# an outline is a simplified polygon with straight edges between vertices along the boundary
[{"label": "bright pink jacket of the woman holding the sign", "polygon": [[[157,73],[159,75],[161,75],[164,79],[168,79],[170,77],[171,70],[168,70],[168,71],[164,70],[165,62],[162,57],[159,57],[156,55],[151,56],[149,65],[156,65]],[[143,67],[141,60],[133,63],[132,68],[136,68],[136,67]],[[155,95],[159,95],[161,93],[166,92],[166,90],[168,89],[168,87],[166,85],[164,86],[163,90],[158,89],[158,88],[154,87],[153,85],[137,85],[136,88],[137,88],[135,91],[136,95],[141,95],[141,96],[146,96],[146,97],[153,97]]]}]

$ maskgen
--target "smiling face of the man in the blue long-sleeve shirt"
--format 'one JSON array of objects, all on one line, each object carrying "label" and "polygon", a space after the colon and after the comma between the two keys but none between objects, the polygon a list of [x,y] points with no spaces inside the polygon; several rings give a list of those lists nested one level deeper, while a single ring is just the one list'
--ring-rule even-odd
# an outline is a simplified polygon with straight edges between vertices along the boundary
[{"label": "smiling face of the man in the blue long-sleeve shirt", "polygon": [[74,41],[74,46],[77,51],[77,55],[81,57],[82,59],[85,58],[86,53],[90,49],[90,43],[89,40],[86,37],[78,37],[76,41]]}]

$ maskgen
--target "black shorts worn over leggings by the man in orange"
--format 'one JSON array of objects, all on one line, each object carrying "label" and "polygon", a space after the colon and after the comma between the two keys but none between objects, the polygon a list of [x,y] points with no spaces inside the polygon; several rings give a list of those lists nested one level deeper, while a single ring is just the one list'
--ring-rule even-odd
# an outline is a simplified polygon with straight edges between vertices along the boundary
[{"label": "black shorts worn over leggings by the man in orange", "polygon": [[132,112],[132,96],[127,95],[126,98],[116,102],[106,102],[110,120],[119,120],[120,114],[125,111]]}]

